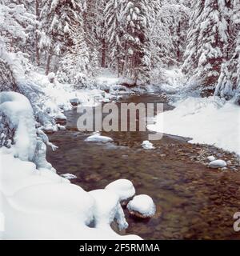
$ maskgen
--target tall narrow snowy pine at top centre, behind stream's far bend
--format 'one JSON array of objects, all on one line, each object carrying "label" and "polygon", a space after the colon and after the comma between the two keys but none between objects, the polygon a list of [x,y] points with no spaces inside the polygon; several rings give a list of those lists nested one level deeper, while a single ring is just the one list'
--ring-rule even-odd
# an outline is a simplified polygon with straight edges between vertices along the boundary
[{"label": "tall narrow snowy pine at top centre, behind stream's far bend", "polygon": [[134,79],[149,82],[150,71],[150,38],[147,31],[150,28],[150,14],[148,1],[132,0],[124,3],[122,18],[125,26],[123,47],[125,59],[123,75]]}]

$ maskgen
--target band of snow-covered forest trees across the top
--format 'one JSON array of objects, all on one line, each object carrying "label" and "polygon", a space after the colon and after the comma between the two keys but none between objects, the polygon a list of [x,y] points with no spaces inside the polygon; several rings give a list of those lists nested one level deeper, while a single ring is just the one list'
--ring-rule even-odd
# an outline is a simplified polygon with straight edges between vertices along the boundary
[{"label": "band of snow-covered forest trees across the top", "polygon": [[108,68],[133,84],[159,83],[177,66],[186,86],[231,98],[239,8],[238,0],[2,0],[1,80],[17,90],[18,71],[44,70],[82,87]]}]

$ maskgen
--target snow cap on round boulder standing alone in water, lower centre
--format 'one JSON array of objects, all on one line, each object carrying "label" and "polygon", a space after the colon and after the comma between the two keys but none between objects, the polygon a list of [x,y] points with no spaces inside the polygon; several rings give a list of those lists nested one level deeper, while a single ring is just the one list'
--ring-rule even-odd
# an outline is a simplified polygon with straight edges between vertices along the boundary
[{"label": "snow cap on round boulder standing alone in water, lower centre", "polygon": [[146,194],[134,196],[133,200],[131,200],[126,207],[130,212],[136,211],[145,218],[152,217],[156,213],[156,206],[153,199]]}]

